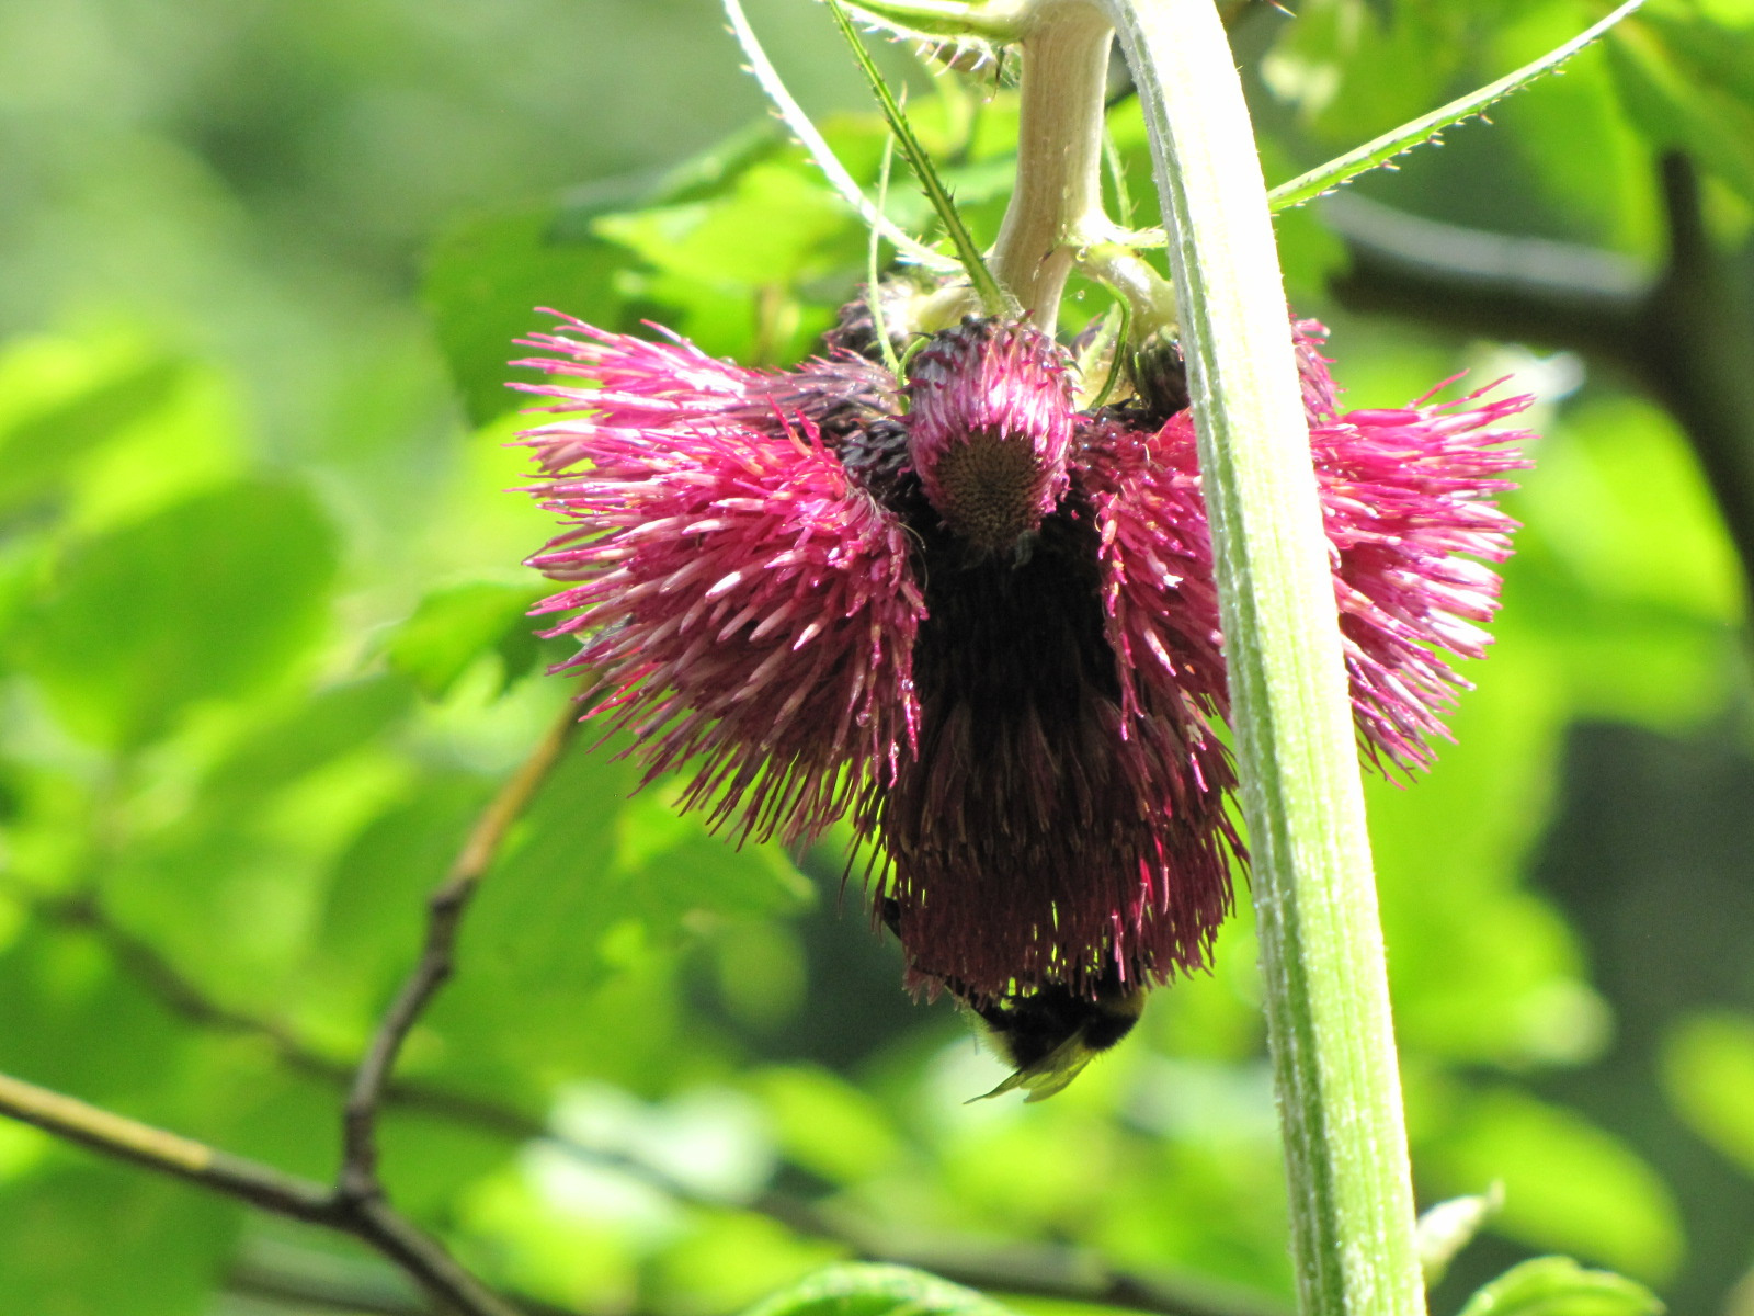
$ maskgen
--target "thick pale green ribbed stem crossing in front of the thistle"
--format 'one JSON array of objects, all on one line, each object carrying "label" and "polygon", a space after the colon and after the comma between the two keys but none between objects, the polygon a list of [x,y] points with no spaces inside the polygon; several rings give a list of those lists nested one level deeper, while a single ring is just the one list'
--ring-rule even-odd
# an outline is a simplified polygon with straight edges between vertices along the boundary
[{"label": "thick pale green ribbed stem crossing in front of the thistle", "polygon": [[1417,1316],[1358,749],[1266,186],[1212,0],[1100,0],[1133,67],[1182,346],[1254,856],[1305,1316]]}]

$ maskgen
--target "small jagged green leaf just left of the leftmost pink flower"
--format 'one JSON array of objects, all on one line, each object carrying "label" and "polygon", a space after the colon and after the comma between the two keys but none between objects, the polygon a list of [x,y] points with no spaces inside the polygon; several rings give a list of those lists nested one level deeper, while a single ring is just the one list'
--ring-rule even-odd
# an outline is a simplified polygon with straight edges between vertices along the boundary
[{"label": "small jagged green leaf just left of the leftmost pink flower", "polygon": [[414,616],[396,626],[384,656],[426,698],[444,698],[477,658],[500,656],[500,690],[526,676],[537,662],[530,607],[545,591],[531,583],[468,581],[426,595]]}]

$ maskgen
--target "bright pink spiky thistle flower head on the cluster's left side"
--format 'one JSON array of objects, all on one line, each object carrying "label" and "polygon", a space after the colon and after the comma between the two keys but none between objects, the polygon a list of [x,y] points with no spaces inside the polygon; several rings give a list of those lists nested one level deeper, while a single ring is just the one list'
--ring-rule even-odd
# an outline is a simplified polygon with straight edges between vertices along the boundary
[{"label": "bright pink spiky thistle flower head on the cluster's left side", "polygon": [[693,762],[684,804],[714,823],[814,837],[917,733],[905,530],[823,442],[877,404],[877,374],[772,375],[570,326],[528,342],[565,353],[528,365],[603,384],[537,386],[570,414],[526,437],[570,523],[531,558],[577,583],[540,609],[582,639],[563,669],[603,676],[591,714],[631,730],[647,781]]}]

